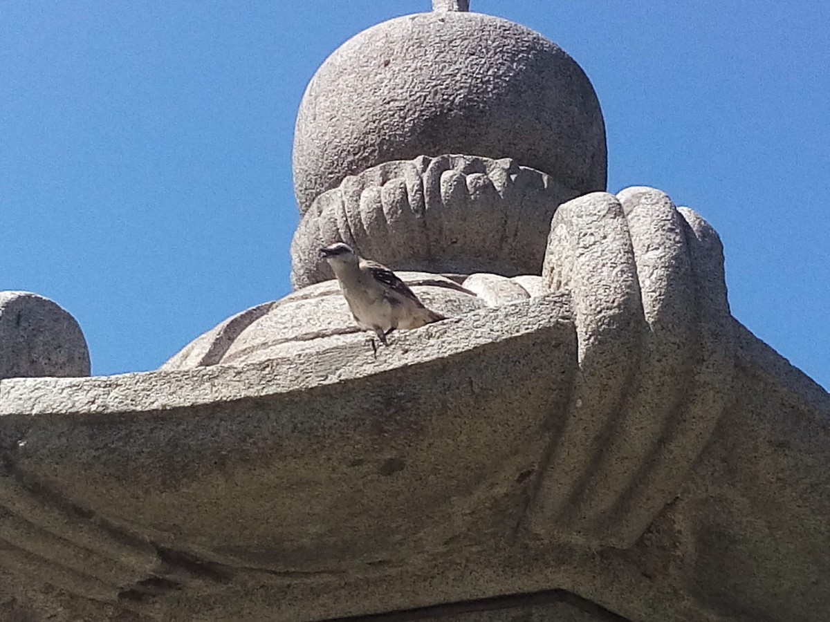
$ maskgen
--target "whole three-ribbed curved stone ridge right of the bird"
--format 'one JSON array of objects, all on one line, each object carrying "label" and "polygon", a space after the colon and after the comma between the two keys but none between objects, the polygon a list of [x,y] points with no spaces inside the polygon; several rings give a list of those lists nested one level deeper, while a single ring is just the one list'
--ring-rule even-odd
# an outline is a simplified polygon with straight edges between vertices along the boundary
[{"label": "whole three-ribbed curved stone ridge right of the bird", "polygon": [[679,490],[730,391],[715,232],[632,187],[559,208],[543,277],[569,292],[579,372],[529,524],[628,547]]}]

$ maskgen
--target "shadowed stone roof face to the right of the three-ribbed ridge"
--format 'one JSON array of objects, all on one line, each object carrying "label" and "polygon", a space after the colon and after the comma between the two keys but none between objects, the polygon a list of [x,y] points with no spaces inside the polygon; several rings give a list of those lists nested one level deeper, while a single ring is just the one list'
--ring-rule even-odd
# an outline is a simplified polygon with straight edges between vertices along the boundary
[{"label": "shadowed stone roof face to the right of the three-ribbed ridge", "polygon": [[727,620],[827,620],[830,394],[734,328],[730,407],[677,502],[683,588]]}]

